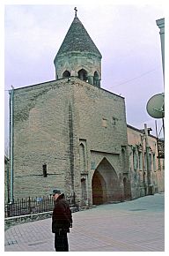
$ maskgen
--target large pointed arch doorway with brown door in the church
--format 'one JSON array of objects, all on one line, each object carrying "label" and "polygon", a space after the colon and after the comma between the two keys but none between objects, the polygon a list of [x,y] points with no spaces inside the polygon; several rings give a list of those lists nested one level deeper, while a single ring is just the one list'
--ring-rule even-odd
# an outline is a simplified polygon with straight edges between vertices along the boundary
[{"label": "large pointed arch doorway with brown door in the church", "polygon": [[92,204],[121,200],[120,180],[110,162],[104,158],[92,176]]}]

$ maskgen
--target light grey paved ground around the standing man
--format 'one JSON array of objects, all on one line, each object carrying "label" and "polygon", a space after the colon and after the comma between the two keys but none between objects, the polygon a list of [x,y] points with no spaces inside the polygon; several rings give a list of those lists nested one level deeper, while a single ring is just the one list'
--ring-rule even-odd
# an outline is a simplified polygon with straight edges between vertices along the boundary
[{"label": "light grey paved ground around the standing man", "polygon": [[[70,252],[164,252],[165,195],[107,204],[73,214]],[[5,231],[5,252],[54,252],[51,219]]]}]

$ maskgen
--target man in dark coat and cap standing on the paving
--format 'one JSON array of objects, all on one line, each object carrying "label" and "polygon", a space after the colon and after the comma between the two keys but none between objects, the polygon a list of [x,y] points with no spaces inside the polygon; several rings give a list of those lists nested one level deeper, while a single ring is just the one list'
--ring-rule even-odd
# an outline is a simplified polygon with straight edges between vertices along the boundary
[{"label": "man in dark coat and cap standing on the paving", "polygon": [[52,215],[52,232],[55,233],[55,251],[69,252],[67,233],[72,227],[72,216],[68,202],[60,190],[53,191],[55,207]]}]

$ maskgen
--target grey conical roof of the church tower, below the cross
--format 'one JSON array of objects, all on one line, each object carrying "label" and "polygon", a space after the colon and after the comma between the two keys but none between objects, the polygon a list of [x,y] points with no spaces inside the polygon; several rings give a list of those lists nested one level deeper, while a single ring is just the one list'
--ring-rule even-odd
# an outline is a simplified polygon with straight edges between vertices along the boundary
[{"label": "grey conical roof of the church tower, below the cross", "polygon": [[99,49],[97,49],[90,35],[87,33],[82,22],[77,18],[77,16],[73,19],[70,29],[62,41],[62,45],[55,58],[62,54],[75,51],[94,53],[101,58]]}]

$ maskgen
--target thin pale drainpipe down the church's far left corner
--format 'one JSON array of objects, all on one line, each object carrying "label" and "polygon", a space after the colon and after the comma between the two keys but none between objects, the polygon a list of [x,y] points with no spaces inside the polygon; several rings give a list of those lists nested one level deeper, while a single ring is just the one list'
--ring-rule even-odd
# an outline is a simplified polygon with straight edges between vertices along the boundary
[{"label": "thin pale drainpipe down the church's far left corner", "polygon": [[11,203],[13,202],[13,98],[14,90],[13,87],[10,94],[10,167],[11,167]]}]

